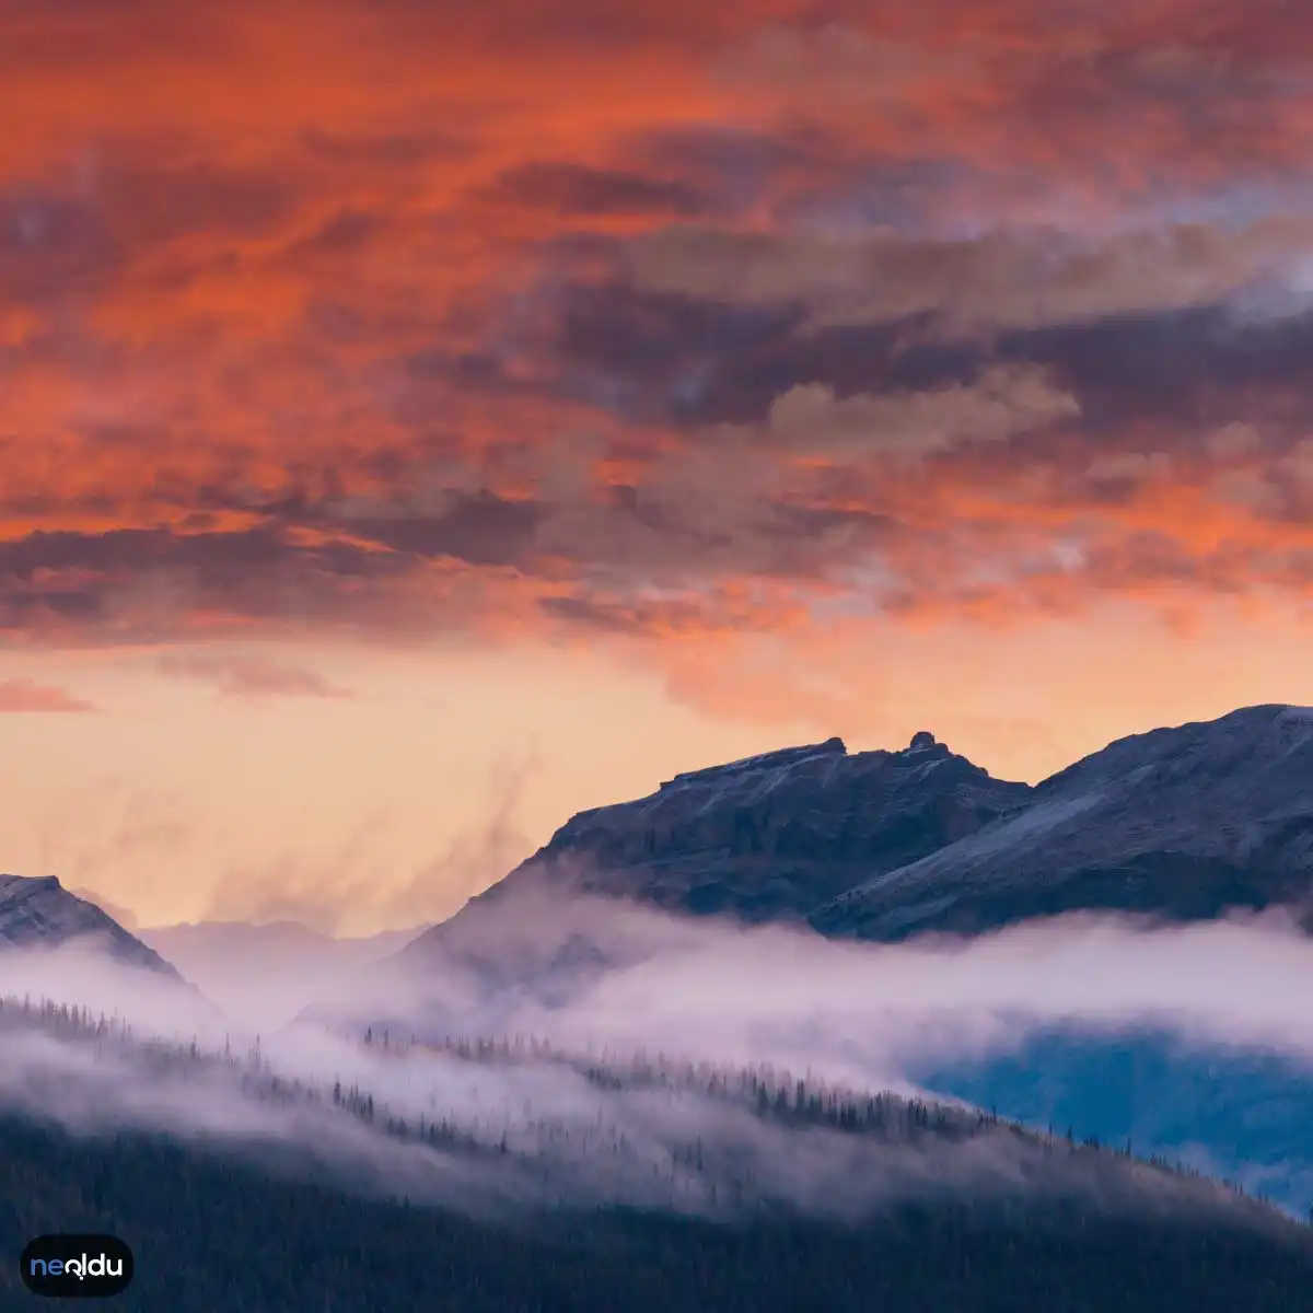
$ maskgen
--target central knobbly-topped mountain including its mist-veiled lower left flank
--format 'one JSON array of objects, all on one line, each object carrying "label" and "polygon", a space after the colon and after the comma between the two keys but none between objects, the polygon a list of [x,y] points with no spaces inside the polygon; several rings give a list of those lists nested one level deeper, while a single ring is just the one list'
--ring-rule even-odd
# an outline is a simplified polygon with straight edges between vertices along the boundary
[{"label": "central knobbly-topped mountain including its mist-veiled lower left flank", "polygon": [[[835,893],[974,832],[1029,793],[928,733],[894,752],[850,754],[831,738],[688,771],[645,798],[571,817],[398,964],[441,961],[484,1004],[524,989],[559,1003],[650,955],[650,928],[618,915],[616,899],[805,928]],[[462,1006],[435,999],[429,1019],[454,1024]]]}]

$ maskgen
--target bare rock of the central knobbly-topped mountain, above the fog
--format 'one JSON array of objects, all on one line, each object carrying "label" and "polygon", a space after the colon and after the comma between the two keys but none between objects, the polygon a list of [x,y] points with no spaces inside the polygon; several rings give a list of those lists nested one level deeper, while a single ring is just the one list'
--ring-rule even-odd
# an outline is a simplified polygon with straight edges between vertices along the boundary
[{"label": "bare rock of the central knobbly-topped mountain, above the fog", "polygon": [[1029,794],[926,733],[901,752],[850,754],[832,738],[689,771],[646,798],[579,813],[415,948],[448,939],[488,903],[561,886],[748,923],[801,920]]}]

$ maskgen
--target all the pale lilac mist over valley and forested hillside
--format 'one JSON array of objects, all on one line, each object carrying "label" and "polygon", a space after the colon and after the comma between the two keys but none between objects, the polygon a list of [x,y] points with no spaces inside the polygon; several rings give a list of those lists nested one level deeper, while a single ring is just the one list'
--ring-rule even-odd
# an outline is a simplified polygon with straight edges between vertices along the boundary
[{"label": "all the pale lilac mist over valley and forested hillside", "polygon": [[[1292,1002],[1300,991],[1291,987],[1313,966],[1309,945],[1275,922],[1148,931],[1073,918],[969,943],[890,948],[559,897],[503,902],[496,915],[488,935],[481,939],[471,924],[460,944],[502,955],[520,982],[511,990],[488,990],[462,970],[458,955],[420,962],[408,955],[408,966],[398,960],[382,972],[343,965],[322,1018],[386,1018],[386,1049],[310,1020],[270,1024],[286,999],[301,995],[305,962],[285,962],[281,979],[270,970],[263,998],[230,993],[242,1011],[222,1014],[87,947],[5,953],[0,1102],[39,1109],[80,1133],[152,1129],[312,1150],[314,1161],[357,1187],[387,1182],[395,1191],[404,1182],[414,1199],[475,1211],[565,1196],[725,1216],[734,1179],[750,1204],[775,1197],[831,1217],[944,1184],[976,1195],[1074,1190],[1119,1207],[1136,1199],[1184,1207],[1205,1196],[1134,1171],[1069,1174],[1065,1157],[1054,1161],[1043,1141],[1006,1129],[981,1134],[969,1112],[965,1142],[855,1138],[773,1123],[754,1115],[755,1099],[737,1098],[735,1073],[755,1071],[785,1088],[805,1077],[813,1088],[861,1099],[890,1088],[915,1094],[906,1071],[924,1057],[1010,1052],[1056,1019],[1111,1029],[1150,1020],[1205,1049],[1238,1044],[1313,1056],[1313,1033]],[[601,948],[609,969],[536,977],[570,944],[587,966],[580,936]],[[231,962],[234,976],[243,970],[240,960]],[[113,1033],[98,1043],[79,1043],[67,1029],[41,1033],[13,1010],[14,994],[88,1003],[93,1015],[104,1010],[129,1023],[137,1041],[163,1039],[186,1050],[194,1039],[200,1053],[169,1061],[148,1043]],[[450,1049],[411,1048],[410,1027],[488,1040],[519,1033],[554,1052],[525,1043],[506,1061],[471,1062]],[[655,1061],[674,1087],[590,1079],[561,1054],[591,1054],[592,1066],[620,1073],[650,1070]],[[720,1091],[713,1074],[722,1077]],[[282,1082],[277,1099],[261,1096],[273,1092],[272,1079]],[[377,1100],[374,1127],[332,1106],[335,1082]],[[307,1086],[318,1099],[306,1096]],[[382,1136],[376,1128],[385,1116],[441,1121],[471,1146],[504,1144],[507,1152],[471,1163],[458,1152]],[[699,1141],[702,1171],[685,1176],[680,1155]],[[620,1145],[628,1148],[617,1157]],[[706,1191],[712,1180],[722,1187],[720,1208]],[[1140,1194],[1146,1188],[1149,1199]]]}]

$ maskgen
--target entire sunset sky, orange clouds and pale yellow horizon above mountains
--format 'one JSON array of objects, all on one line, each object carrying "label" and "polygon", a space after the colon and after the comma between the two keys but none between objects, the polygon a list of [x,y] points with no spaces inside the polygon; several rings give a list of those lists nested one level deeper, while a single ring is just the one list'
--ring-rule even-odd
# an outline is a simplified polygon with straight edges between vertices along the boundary
[{"label": "entire sunset sky, orange clouds and pale yellow horizon above mountains", "polygon": [[0,869],[432,920],[831,734],[1313,702],[1279,0],[0,0]]}]

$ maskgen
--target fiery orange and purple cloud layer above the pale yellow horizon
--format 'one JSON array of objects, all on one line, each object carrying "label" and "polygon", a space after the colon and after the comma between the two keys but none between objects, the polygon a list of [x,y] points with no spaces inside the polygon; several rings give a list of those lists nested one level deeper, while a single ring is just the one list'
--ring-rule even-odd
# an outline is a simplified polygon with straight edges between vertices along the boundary
[{"label": "fiery orange and purple cloud layer above the pale yellow horizon", "polygon": [[1308,596],[1284,5],[127,26],[0,18],[13,641]]}]

